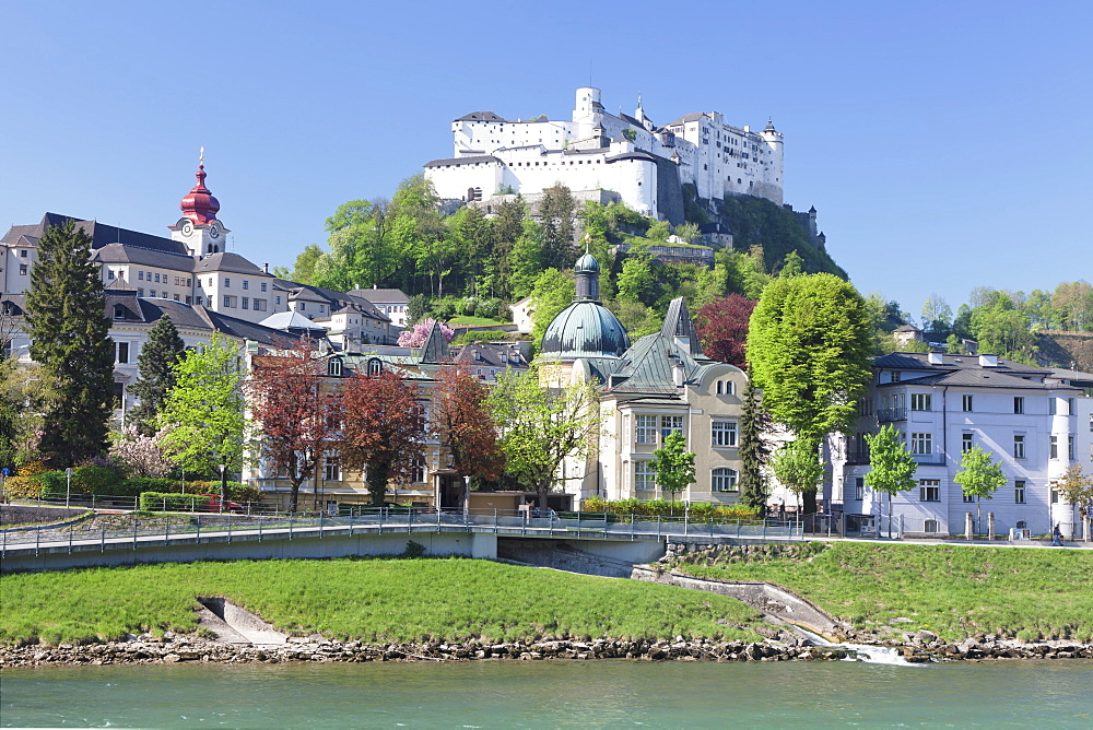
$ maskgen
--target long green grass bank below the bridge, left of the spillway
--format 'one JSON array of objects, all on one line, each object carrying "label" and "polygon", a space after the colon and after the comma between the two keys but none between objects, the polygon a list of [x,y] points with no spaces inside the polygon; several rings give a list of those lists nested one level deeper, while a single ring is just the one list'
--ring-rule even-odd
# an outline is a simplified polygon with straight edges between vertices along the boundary
[{"label": "long green grass bank below the bridge, left of the spillway", "polygon": [[188,632],[197,596],[227,598],[281,631],[337,639],[762,638],[752,631],[760,614],[730,598],[468,558],[87,568],[3,576],[0,591],[0,644]]}]

